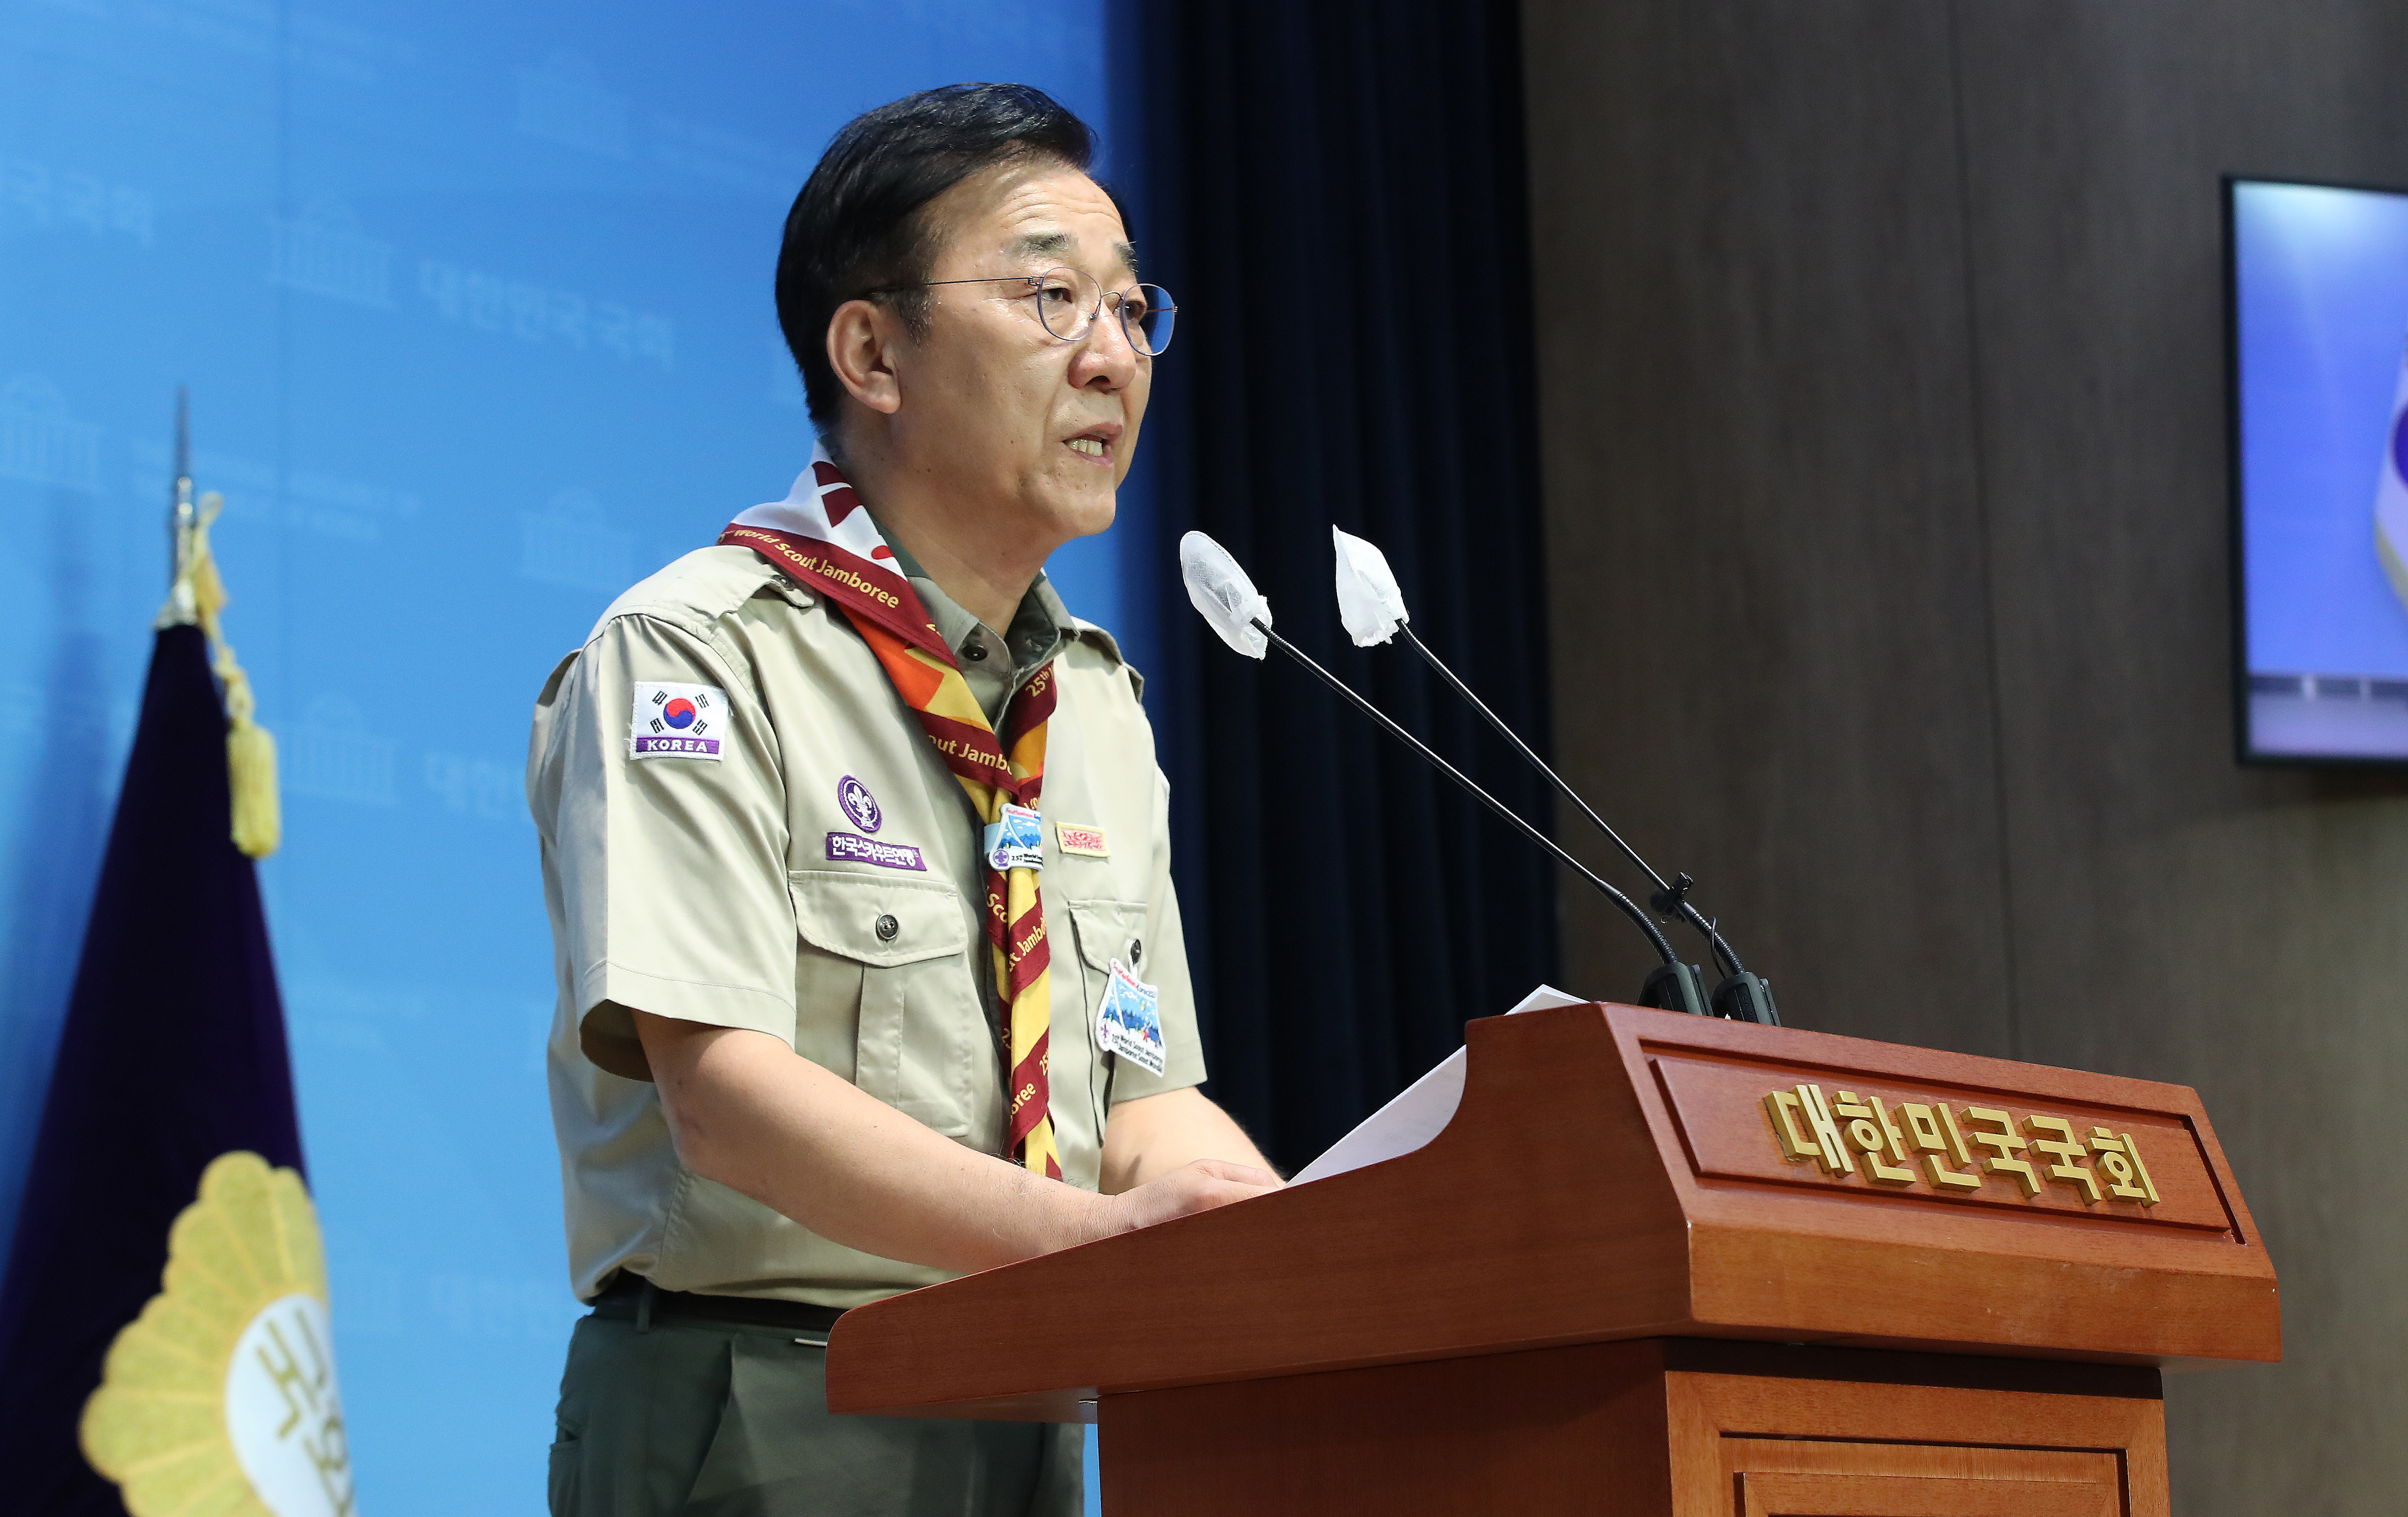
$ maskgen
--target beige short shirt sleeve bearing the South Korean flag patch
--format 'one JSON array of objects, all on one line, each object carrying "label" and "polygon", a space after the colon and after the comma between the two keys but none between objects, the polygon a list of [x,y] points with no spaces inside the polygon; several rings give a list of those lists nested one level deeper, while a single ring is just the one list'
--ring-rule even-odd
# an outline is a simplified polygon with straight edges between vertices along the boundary
[{"label": "beige short shirt sleeve bearing the South Korean flag patch", "polygon": [[650,1079],[628,1009],[792,1047],[785,780],[751,681],[706,636],[628,614],[544,701],[530,792],[585,1055]]}]

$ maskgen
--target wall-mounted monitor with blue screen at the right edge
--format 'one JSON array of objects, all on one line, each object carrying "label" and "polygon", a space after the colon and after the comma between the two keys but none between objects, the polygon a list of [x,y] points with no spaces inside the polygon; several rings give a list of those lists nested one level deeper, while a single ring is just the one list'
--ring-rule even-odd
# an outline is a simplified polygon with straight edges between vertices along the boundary
[{"label": "wall-mounted monitor with blue screen at the right edge", "polygon": [[2239,756],[2408,763],[2408,193],[2225,181]]}]

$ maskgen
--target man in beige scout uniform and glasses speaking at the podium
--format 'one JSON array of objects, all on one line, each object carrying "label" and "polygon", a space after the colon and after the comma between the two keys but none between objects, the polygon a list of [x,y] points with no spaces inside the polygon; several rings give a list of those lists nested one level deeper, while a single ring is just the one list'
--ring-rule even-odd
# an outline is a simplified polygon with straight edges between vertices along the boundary
[{"label": "man in beige scout uniform and glasses speaking at the podium", "polygon": [[1279,1185],[1197,1091],[1141,681],[1043,575],[1173,323],[1088,154],[1021,87],[850,123],[778,258],[819,453],[537,703],[554,1512],[1076,1512],[1079,1428],[828,1416],[836,1315]]}]

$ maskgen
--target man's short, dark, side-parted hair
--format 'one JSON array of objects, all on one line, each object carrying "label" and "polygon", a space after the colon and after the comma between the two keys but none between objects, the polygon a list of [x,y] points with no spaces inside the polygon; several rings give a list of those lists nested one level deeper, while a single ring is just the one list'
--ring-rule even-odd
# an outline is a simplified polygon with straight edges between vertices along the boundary
[{"label": "man's short, dark, side-parted hair", "polygon": [[[946,84],[864,111],[828,142],[778,248],[778,327],[821,431],[836,429],[845,397],[828,366],[828,318],[867,289],[927,279],[939,253],[927,205],[1023,157],[1084,171],[1096,132],[1028,84]],[[898,294],[896,308],[913,335],[927,330],[925,291]]]}]

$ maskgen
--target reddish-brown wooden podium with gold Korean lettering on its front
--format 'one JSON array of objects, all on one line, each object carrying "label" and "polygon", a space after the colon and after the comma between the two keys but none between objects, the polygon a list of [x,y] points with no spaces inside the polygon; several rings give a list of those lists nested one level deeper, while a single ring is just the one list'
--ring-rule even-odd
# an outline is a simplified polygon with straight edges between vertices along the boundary
[{"label": "reddish-brown wooden podium with gold Korean lettering on its front", "polygon": [[828,1406],[1096,1421],[1117,1517],[2165,1517],[2160,1365],[2280,1356],[2189,1088],[1466,1033],[1426,1149],[845,1312]]}]

